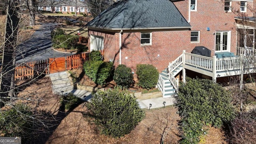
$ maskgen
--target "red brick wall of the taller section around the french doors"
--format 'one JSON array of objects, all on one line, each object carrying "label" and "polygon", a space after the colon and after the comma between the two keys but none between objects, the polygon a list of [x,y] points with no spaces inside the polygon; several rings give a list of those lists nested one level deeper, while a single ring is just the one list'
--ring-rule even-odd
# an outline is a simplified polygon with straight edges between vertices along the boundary
[{"label": "red brick wall of the taller section around the french doors", "polygon": [[[256,2],[256,0],[254,0]],[[174,2],[183,16],[188,20],[188,0]],[[236,22],[234,16],[252,16],[249,10],[253,7],[253,2],[247,2],[247,12],[239,14],[240,1],[232,1],[232,11],[224,11],[224,0],[197,0],[197,11],[191,11],[190,25],[191,30],[200,31],[200,43],[191,43],[190,48],[195,46],[205,46],[212,50],[212,55],[215,50],[215,35],[216,31],[231,31],[231,46],[230,51],[236,53]],[[238,11],[238,12],[236,12]],[[209,27],[210,31],[206,28]]]}]

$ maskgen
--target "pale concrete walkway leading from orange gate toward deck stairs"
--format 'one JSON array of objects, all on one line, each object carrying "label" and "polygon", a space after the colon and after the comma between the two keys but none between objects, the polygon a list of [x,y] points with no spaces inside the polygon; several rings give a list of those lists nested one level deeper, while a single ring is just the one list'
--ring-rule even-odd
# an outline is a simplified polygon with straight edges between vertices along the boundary
[{"label": "pale concrete walkway leading from orange gate toward deck stairs", "polygon": [[[87,90],[77,90],[74,89],[74,85],[72,84],[72,80],[70,77],[70,73],[68,72],[58,72],[54,74],[49,74],[50,79],[52,81],[52,92],[54,94],[68,94],[72,92],[78,98],[81,98],[85,101],[90,101],[92,98],[92,92]],[[63,93],[62,93],[63,91]],[[153,108],[162,108],[165,106],[173,105],[175,102],[174,98],[151,98],[146,100],[137,100],[139,102],[140,108],[153,109]],[[151,104],[151,106],[150,106]]]}]

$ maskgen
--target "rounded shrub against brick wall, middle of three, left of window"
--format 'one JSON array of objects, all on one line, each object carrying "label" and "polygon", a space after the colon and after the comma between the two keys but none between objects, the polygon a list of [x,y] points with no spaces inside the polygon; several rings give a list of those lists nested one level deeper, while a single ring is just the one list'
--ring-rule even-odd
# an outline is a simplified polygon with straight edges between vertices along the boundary
[{"label": "rounded shrub against brick wall, middle of three, left of window", "polygon": [[124,64],[117,66],[114,72],[114,81],[116,84],[123,86],[125,88],[132,86],[134,84],[132,69],[127,68]]}]

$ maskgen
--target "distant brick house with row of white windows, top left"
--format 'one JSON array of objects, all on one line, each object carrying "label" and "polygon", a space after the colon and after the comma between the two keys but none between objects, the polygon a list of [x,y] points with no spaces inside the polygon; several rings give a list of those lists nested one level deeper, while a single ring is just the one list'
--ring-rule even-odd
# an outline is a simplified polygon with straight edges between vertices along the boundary
[{"label": "distant brick house with row of white windows, top left", "polygon": [[77,14],[88,14],[89,12],[87,5],[84,2],[81,2],[80,0],[44,1],[43,3],[38,4],[38,10],[62,12],[63,14],[71,14],[75,11]]}]

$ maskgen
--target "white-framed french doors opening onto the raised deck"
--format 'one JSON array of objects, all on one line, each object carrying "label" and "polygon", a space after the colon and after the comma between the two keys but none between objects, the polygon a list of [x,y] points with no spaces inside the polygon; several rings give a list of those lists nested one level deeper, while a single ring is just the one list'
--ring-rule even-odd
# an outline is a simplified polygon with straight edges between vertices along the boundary
[{"label": "white-framed french doors opening onto the raised deck", "polygon": [[216,32],[215,52],[230,52],[230,31]]}]

